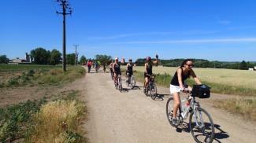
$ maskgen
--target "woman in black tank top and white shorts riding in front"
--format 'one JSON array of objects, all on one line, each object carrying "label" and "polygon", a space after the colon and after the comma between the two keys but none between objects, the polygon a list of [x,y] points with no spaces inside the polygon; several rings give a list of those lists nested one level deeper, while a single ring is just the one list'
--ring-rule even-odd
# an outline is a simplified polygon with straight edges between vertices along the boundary
[{"label": "woman in black tank top and white shorts riding in front", "polygon": [[[180,91],[192,90],[191,86],[187,86],[184,81],[187,78],[192,78],[195,80],[196,84],[202,84],[195,72],[192,70],[193,61],[191,59],[186,59],[182,62],[180,67],[176,70],[173,79],[170,83],[170,93],[173,94],[173,124],[177,125],[176,114],[178,108],[180,107]],[[187,101],[189,105],[190,101]]]}]

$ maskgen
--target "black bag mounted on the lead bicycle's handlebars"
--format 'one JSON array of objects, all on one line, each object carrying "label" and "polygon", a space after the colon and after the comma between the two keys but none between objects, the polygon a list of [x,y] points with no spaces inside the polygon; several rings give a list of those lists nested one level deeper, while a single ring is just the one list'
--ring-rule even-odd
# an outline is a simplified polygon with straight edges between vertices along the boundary
[{"label": "black bag mounted on the lead bicycle's handlebars", "polygon": [[208,98],[210,97],[210,87],[205,84],[194,85],[192,89],[192,97]]}]

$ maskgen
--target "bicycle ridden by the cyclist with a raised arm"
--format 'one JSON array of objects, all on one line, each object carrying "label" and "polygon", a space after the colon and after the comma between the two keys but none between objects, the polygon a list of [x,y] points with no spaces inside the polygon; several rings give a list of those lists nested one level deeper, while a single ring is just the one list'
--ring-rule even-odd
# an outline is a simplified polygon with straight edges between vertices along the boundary
[{"label": "bicycle ridden by the cyclist with a raised arm", "polygon": [[158,96],[157,85],[154,83],[155,74],[150,75],[149,83],[147,87],[144,86],[144,94],[147,96],[148,91],[150,91],[150,97],[154,100]]}]

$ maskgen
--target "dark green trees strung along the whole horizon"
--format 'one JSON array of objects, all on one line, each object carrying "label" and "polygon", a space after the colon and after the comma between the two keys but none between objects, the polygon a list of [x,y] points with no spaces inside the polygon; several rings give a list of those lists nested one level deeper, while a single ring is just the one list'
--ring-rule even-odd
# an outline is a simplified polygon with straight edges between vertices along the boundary
[{"label": "dark green trees strung along the whole horizon", "polygon": [[[32,57],[32,64],[50,64],[56,65],[61,64],[61,52],[57,49],[46,50],[42,47],[32,49],[30,56]],[[67,64],[75,64],[75,53],[69,53],[66,55]],[[91,61],[100,61],[102,65],[109,64],[112,61],[112,57],[108,55],[95,55],[94,59]],[[155,59],[152,59],[155,60]],[[76,57],[76,61],[77,57]],[[184,61],[184,59],[170,59],[170,60],[159,60],[159,65],[165,67],[178,67]],[[241,61],[241,62],[225,62],[225,61],[207,61],[204,59],[192,59],[194,61],[195,68],[228,68],[228,69],[242,69],[247,70],[248,68],[254,68],[256,62]],[[9,59],[6,55],[0,55],[0,63],[8,63]],[[87,58],[82,56],[78,64],[83,64],[87,62]],[[144,65],[145,59],[139,58],[135,61],[137,65]],[[126,64],[126,63],[124,63]]]}]

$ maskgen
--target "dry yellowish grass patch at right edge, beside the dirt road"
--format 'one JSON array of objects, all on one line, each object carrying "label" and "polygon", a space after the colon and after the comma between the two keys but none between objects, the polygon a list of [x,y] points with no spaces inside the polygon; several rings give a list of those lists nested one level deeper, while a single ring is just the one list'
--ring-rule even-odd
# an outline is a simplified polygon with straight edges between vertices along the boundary
[{"label": "dry yellowish grass patch at right edge, beside the dirt road", "polygon": [[228,112],[242,115],[245,119],[252,121],[256,120],[256,98],[248,99],[232,99],[228,101],[217,100],[214,101],[214,106],[217,108],[224,108]]}]

